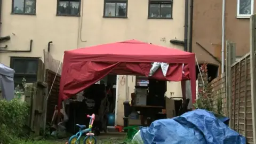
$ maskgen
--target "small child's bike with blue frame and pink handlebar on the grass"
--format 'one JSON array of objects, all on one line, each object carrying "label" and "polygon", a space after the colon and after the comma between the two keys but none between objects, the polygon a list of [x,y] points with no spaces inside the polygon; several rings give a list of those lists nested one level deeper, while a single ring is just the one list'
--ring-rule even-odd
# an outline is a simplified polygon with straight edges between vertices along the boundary
[{"label": "small child's bike with blue frame and pink handlebar on the grass", "polygon": [[75,135],[70,137],[68,142],[66,142],[66,144],[79,144],[80,138],[84,133],[86,133],[86,137],[83,140],[83,144],[96,144],[97,143],[97,140],[94,137],[94,133],[92,133],[92,124],[95,119],[95,115],[94,114],[92,114],[91,116],[87,115],[87,117],[91,118],[90,123],[89,123],[89,128],[85,129],[85,127],[86,127],[85,125],[76,124],[76,126],[79,127],[79,131]]}]

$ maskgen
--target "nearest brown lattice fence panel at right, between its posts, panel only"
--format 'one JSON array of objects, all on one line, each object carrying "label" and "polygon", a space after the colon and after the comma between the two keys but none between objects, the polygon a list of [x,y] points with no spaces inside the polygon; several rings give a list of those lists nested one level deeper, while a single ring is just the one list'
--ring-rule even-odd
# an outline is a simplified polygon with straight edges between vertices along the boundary
[{"label": "nearest brown lattice fence panel at right, between its posts, panel only", "polygon": [[253,143],[250,54],[231,65],[231,74],[231,128],[244,135],[248,143]]}]

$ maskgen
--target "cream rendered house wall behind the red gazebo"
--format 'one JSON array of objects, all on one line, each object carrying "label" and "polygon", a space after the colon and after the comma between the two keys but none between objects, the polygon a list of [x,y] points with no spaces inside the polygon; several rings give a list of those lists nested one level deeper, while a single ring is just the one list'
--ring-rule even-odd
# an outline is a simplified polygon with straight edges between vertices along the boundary
[{"label": "cream rendered house wall behind the red gazebo", "polygon": [[[175,38],[184,39],[185,1],[173,2],[171,20],[147,19],[148,0],[129,0],[127,19],[102,18],[103,0],[84,1],[81,17],[56,16],[57,0],[37,0],[36,15],[13,15],[11,5],[11,0],[3,1],[0,33],[1,36],[10,35],[11,41],[1,43],[0,47],[8,45],[7,50],[28,50],[30,39],[34,43],[31,53],[0,53],[0,62],[7,66],[10,65],[12,56],[43,59],[43,50],[47,49],[49,41],[53,41],[51,54],[58,60],[61,60],[65,50],[127,39],[183,50],[182,46],[173,45],[169,41]],[[129,76],[129,93],[133,91],[134,81]],[[125,87],[119,85],[118,91],[117,124],[120,125],[123,125]]]}]

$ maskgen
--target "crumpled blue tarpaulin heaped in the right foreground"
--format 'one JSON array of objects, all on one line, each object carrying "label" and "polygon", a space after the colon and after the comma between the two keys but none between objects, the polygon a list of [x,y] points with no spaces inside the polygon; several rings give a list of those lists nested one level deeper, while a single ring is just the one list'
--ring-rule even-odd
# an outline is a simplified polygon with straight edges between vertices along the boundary
[{"label": "crumpled blue tarpaulin heaped in the right foreground", "polygon": [[140,133],[145,144],[246,143],[245,137],[203,109],[189,111],[172,119],[159,119],[149,127],[142,127]]}]

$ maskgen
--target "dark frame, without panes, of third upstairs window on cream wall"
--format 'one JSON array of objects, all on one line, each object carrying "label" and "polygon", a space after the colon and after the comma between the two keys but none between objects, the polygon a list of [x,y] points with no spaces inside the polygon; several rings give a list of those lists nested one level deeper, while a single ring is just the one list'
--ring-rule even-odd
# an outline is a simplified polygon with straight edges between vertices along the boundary
[{"label": "dark frame, without panes, of third upstairs window on cream wall", "polygon": [[[103,18],[121,18],[121,19],[127,19],[127,13],[128,13],[128,0],[103,0],[104,1],[104,7],[103,7]],[[126,4],[126,13],[124,17],[120,16],[106,16],[106,3],[125,3]],[[115,6],[115,15],[116,15],[116,6]]]}]

